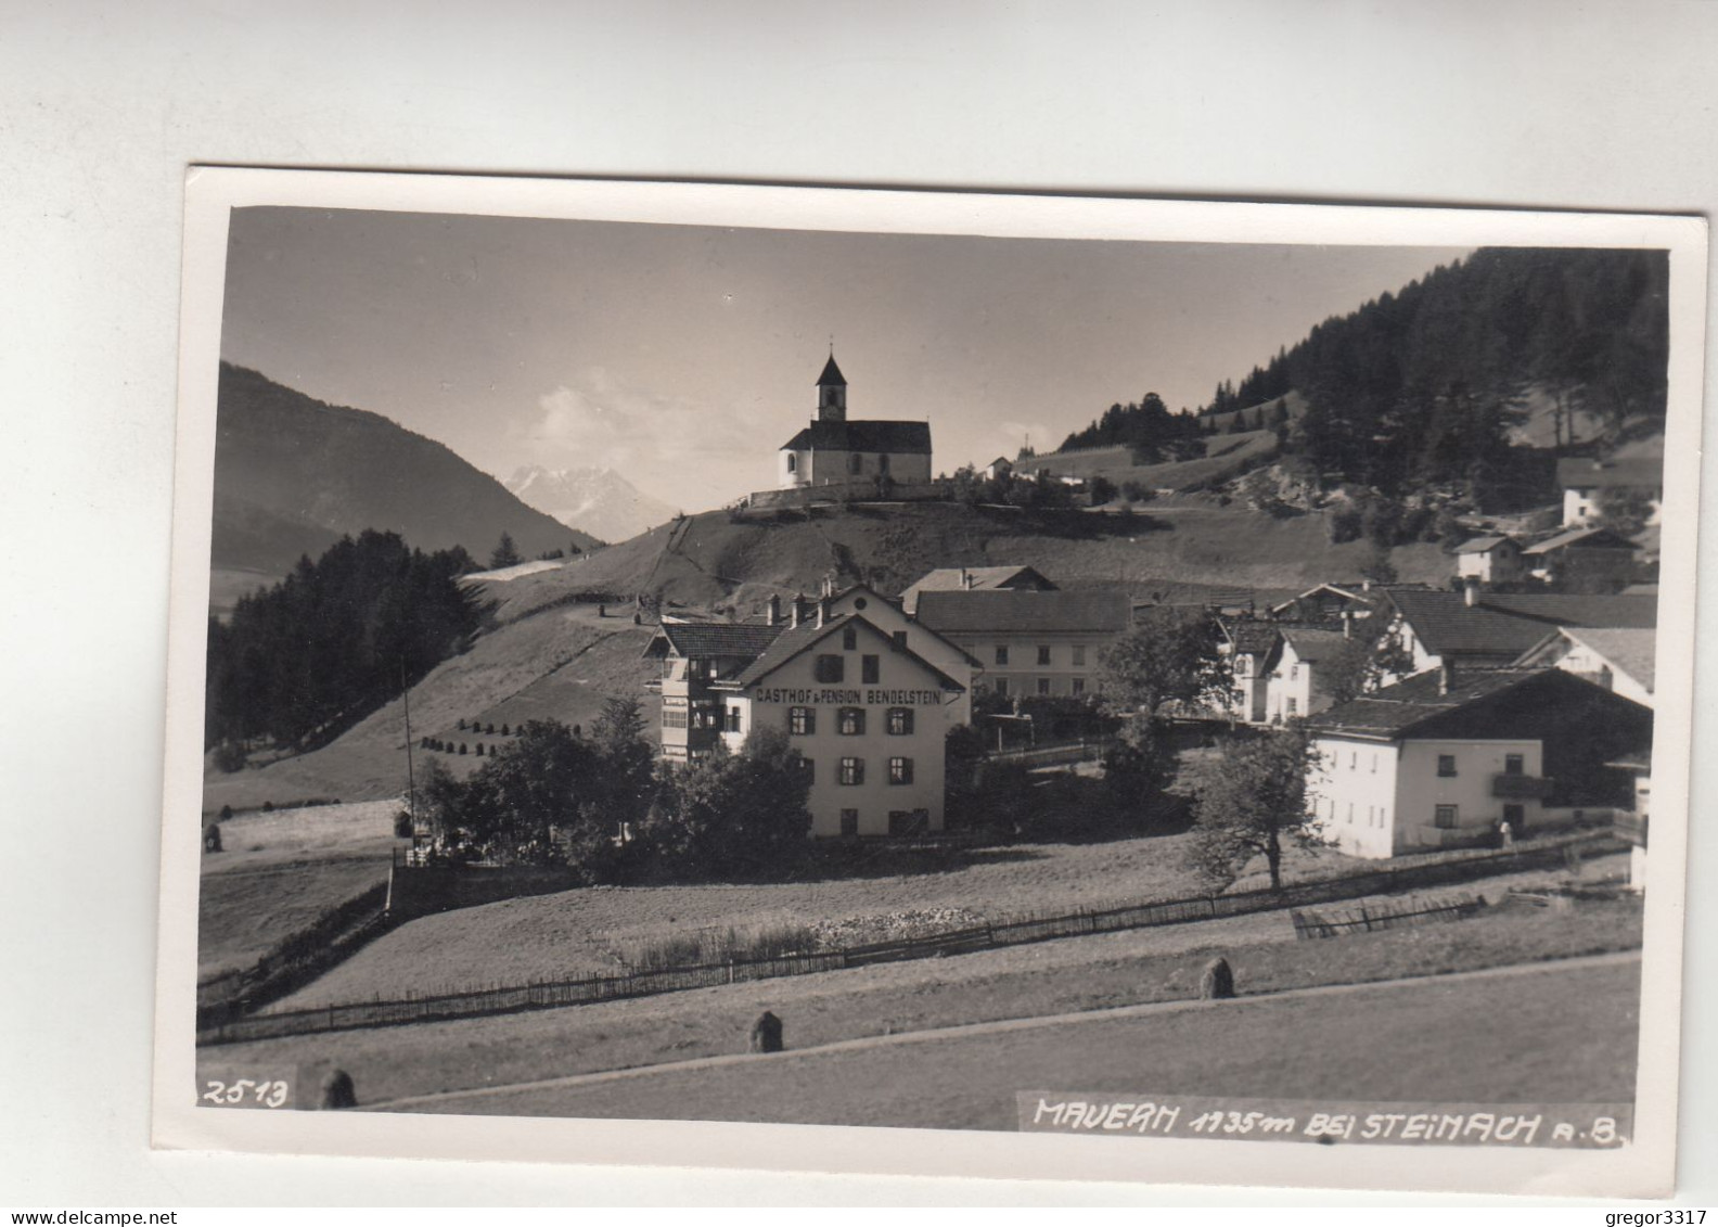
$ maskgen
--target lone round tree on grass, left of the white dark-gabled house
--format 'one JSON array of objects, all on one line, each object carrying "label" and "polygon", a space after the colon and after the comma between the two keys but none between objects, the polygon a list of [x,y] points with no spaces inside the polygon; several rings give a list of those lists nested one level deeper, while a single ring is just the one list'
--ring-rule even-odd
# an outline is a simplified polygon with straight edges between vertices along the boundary
[{"label": "lone round tree on grass, left of the white dark-gabled house", "polygon": [[1304,730],[1278,729],[1232,741],[1194,796],[1187,864],[1216,888],[1228,887],[1263,856],[1271,890],[1282,890],[1285,845],[1319,844],[1306,801],[1314,751]]}]

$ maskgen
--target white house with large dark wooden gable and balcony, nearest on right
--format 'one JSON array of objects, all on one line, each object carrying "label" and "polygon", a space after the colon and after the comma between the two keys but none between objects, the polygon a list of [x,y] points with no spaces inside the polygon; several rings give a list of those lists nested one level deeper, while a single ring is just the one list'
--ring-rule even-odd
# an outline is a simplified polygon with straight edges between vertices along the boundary
[{"label": "white house with large dark wooden gable and balcony, nearest on right", "polygon": [[1388,858],[1603,821],[1634,804],[1625,772],[1649,708],[1562,668],[1438,668],[1309,722],[1307,809],[1350,856]]}]

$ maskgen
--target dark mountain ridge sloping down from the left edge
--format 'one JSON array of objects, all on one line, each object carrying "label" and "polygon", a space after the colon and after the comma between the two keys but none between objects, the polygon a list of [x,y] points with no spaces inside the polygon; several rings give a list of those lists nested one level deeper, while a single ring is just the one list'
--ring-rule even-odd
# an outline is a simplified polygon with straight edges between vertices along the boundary
[{"label": "dark mountain ridge sloping down from the left edge", "polygon": [[211,564],[283,574],[301,553],[366,528],[419,550],[462,545],[479,562],[502,533],[527,559],[600,545],[381,414],[328,406],[222,363]]}]

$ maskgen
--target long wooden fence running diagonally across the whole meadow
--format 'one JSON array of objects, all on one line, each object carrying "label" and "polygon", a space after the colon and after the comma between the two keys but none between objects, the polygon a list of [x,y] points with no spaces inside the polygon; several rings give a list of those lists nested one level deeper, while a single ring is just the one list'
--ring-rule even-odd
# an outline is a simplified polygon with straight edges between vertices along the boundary
[{"label": "long wooden fence running diagonally across the whole meadow", "polygon": [[770,959],[740,959],[718,964],[665,968],[660,971],[634,971],[615,976],[588,976],[582,980],[541,981],[512,988],[483,988],[462,993],[431,997],[405,997],[399,1000],[354,1002],[316,1009],[282,1010],[235,1019],[199,1019],[198,1043],[244,1043],[289,1035],[316,1035],[352,1028],[397,1026],[436,1019],[481,1017],[553,1005],[586,1005],[648,997],[685,988],[711,988],[742,980],[771,980],[777,976],[804,976],[842,968],[864,968],[874,962],[902,962],[974,950],[993,950],[1027,942],[1048,942],[1062,937],[1091,933],[1118,933],[1124,930],[1153,928],[1160,925],[1185,925],[1189,921],[1221,919],[1252,913],[1282,911],[1323,904],[1338,899],[1359,899],[1416,887],[1469,882],[1496,873],[1514,873],[1550,864],[1562,864],[1567,847],[1617,847],[1605,832],[1584,832],[1560,839],[1517,844],[1500,852],[1467,852],[1448,859],[1376,870],[1371,873],[1297,882],[1282,890],[1244,890],[1232,895],[1199,895],[1163,902],[1127,904],[1057,914],[1008,916],[986,925],[931,933],[926,937],[876,942],[840,950],[787,954]]}]

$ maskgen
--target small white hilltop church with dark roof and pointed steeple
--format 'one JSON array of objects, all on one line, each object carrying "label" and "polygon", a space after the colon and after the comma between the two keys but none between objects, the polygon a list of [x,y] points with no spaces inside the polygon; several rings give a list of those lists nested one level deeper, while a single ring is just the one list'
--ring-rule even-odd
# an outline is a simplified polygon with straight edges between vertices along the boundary
[{"label": "small white hilltop church with dark roof and pointed steeple", "polygon": [[861,486],[886,493],[931,481],[931,424],[847,421],[847,380],[835,351],[818,376],[818,416],[782,443],[778,490]]}]

